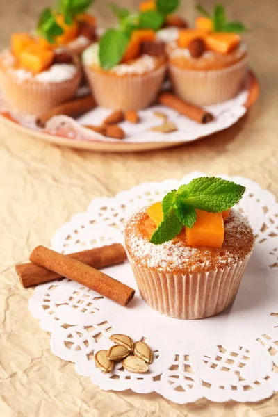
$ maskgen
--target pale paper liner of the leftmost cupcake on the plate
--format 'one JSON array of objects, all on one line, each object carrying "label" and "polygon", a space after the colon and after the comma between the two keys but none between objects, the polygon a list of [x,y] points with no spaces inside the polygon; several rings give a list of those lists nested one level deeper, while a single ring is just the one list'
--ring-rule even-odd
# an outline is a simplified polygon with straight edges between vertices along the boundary
[{"label": "pale paper liner of the leftmost cupcake on the plate", "polygon": [[3,101],[18,116],[40,116],[59,104],[72,99],[81,81],[80,68],[72,79],[46,83],[33,79],[19,80],[0,69],[0,88]]}]

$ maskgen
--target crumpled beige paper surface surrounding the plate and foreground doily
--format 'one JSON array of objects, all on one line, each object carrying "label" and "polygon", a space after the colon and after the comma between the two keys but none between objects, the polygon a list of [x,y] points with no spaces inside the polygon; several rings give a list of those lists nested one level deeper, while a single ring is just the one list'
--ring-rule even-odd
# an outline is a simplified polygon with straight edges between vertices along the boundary
[{"label": "crumpled beige paper surface surrounding the plate and foreground doily", "polygon": [[[183,0],[192,21],[194,1]],[[98,0],[99,23],[112,22]],[[138,1],[118,1],[124,6]],[[211,7],[212,0],[203,0]],[[228,131],[183,147],[141,154],[93,154],[44,145],[0,125],[0,416],[278,416],[278,394],[257,404],[199,400],[183,406],[159,395],[101,391],[74,365],[51,354],[49,334],[27,310],[33,289],[19,286],[14,264],[33,247],[49,245],[54,231],[98,196],[114,195],[144,181],[181,178],[192,170],[240,174],[278,197],[277,0],[234,0],[230,15],[250,28],[245,36],[261,97]],[[27,31],[47,0],[0,1],[0,46],[13,31]],[[232,10],[231,10],[232,9]],[[276,41],[275,41],[276,38]]]}]

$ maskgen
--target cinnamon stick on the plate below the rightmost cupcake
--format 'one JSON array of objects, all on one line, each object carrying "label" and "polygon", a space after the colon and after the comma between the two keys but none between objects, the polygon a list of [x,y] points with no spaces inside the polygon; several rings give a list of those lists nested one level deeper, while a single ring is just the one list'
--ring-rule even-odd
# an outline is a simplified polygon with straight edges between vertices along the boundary
[{"label": "cinnamon stick on the plate below the rightmost cupcake", "polygon": [[214,118],[213,115],[204,110],[204,108],[184,101],[172,94],[172,92],[161,92],[161,94],[158,95],[158,102],[164,104],[164,106],[174,108],[174,110],[177,110],[181,115],[189,117],[198,123],[209,123],[212,122]]}]

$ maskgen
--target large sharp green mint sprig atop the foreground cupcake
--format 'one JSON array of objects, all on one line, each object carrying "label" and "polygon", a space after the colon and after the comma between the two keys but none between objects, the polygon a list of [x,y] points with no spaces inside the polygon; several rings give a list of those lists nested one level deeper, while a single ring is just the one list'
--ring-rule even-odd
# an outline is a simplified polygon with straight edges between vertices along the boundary
[{"label": "large sharp green mint sprig atop the foreground cupcake", "polygon": [[195,209],[221,213],[238,203],[245,187],[217,177],[199,177],[167,193],[162,201],[163,220],[150,241],[160,245],[172,240],[183,225],[191,229],[197,220]]}]

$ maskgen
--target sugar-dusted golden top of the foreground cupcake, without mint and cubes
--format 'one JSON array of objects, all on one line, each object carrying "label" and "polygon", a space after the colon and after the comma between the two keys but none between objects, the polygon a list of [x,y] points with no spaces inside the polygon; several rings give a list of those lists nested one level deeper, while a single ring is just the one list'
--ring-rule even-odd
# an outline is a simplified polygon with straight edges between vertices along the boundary
[{"label": "sugar-dusted golden top of the foreground cupcake, without mint and cubes", "polygon": [[245,260],[254,246],[250,224],[233,209],[224,222],[224,243],[220,248],[190,247],[184,231],[168,242],[154,245],[149,239],[155,229],[156,225],[143,208],[129,220],[125,244],[133,261],[158,272],[192,274],[229,267]]}]

